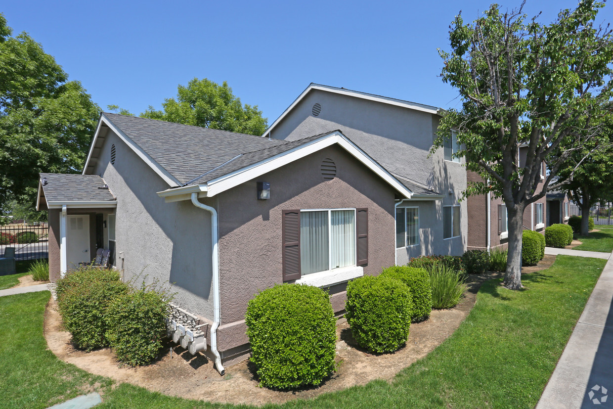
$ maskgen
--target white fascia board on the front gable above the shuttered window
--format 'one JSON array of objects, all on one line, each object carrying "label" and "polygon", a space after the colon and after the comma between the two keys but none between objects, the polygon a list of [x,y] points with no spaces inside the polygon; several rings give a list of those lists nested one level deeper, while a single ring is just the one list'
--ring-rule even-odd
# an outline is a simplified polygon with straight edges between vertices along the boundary
[{"label": "white fascia board on the front gable above the shuttered window", "polygon": [[267,174],[272,170],[278,169],[279,167],[296,161],[297,159],[304,158],[305,156],[311,155],[311,153],[327,148],[335,143],[338,143],[338,145],[348,151],[352,156],[354,156],[354,158],[362,162],[362,164],[367,166],[368,169],[375,172],[404,197],[410,199],[411,196],[413,196],[413,192],[407,189],[405,185],[398,182],[394,176],[387,172],[387,170],[385,170],[377,162],[373,161],[373,159],[366,155],[366,153],[357,147],[357,145],[352,143],[339,132],[333,132],[305,143],[304,145],[300,145],[299,147],[295,147],[289,151],[275,155],[272,158],[265,159],[264,161],[257,162],[251,166],[243,167],[242,169],[235,170],[234,172],[216,178],[215,180],[211,180],[207,183],[207,197],[215,196],[216,194],[226,191],[227,189],[234,188],[234,186],[248,182],[249,180],[260,175]]}]

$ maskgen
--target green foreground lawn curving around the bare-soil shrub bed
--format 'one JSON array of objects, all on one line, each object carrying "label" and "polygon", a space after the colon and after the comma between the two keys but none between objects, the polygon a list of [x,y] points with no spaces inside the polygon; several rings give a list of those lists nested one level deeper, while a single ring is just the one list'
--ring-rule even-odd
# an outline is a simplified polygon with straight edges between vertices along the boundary
[{"label": "green foreground lawn curving around the bare-soil shrub bed", "polygon": [[[373,381],[292,408],[534,407],[606,261],[557,256],[548,270],[524,275],[524,291],[485,283],[459,329],[392,381]],[[102,384],[100,408],[210,408],[194,400],[111,383],[55,359],[45,350],[42,315],[48,292],[0,298],[0,402],[44,408],[79,386]],[[276,407],[277,405],[268,405]]]}]

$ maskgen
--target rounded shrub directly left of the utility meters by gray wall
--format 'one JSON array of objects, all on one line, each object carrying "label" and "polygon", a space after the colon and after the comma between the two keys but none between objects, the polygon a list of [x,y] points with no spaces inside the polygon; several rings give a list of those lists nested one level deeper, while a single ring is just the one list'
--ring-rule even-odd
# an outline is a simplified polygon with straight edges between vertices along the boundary
[{"label": "rounded shrub directly left of the utility meters by gray wall", "polygon": [[112,300],[106,312],[106,337],[117,360],[132,366],[156,359],[166,338],[166,294],[131,289]]}]

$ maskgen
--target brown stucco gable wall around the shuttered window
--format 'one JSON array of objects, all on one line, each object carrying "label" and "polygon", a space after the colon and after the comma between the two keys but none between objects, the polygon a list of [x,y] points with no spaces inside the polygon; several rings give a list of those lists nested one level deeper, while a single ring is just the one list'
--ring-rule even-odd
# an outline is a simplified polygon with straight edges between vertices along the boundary
[{"label": "brown stucco gable wall around the shuttered window", "polygon": [[[324,180],[321,162],[332,159],[337,177]],[[256,182],[270,182],[271,198],[256,199]],[[340,147],[329,147],[243,183],[218,196],[221,325],[219,350],[248,342],[245,312],[257,291],[283,283],[281,212],[298,208],[368,208],[368,265],[376,275],[394,264],[395,192]],[[345,286],[331,291],[335,311],[343,310]]]}]

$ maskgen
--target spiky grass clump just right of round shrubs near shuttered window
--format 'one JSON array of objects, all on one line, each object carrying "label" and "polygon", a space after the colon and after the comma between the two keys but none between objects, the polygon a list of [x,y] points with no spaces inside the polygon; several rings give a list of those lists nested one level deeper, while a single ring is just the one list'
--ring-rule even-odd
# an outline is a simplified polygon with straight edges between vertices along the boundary
[{"label": "spiky grass clump just right of round shrubs near shuttered window", "polygon": [[468,287],[464,284],[461,272],[439,265],[428,273],[432,285],[432,308],[437,310],[452,308],[464,298]]}]

